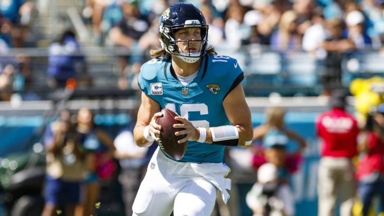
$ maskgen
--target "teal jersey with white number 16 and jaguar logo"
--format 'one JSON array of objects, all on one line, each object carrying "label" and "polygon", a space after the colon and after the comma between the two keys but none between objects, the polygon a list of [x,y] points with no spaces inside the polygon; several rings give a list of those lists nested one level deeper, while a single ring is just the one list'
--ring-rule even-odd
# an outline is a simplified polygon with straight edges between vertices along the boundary
[{"label": "teal jersey with white number 16 and jaguar logo", "polygon": [[[141,67],[138,84],[160,108],[175,111],[196,127],[230,125],[223,100],[244,79],[236,59],[206,55],[191,83],[183,86],[171,69],[171,58],[152,59]],[[222,145],[188,141],[179,162],[223,162]]]}]

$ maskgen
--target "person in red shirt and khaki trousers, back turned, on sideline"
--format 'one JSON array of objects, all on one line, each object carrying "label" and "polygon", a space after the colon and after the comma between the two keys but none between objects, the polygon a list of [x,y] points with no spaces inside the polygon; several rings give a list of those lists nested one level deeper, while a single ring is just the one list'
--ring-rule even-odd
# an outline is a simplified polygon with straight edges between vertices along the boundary
[{"label": "person in red shirt and khaki trousers, back turned, on sideline", "polygon": [[318,216],[330,216],[340,198],[340,216],[351,216],[355,195],[352,157],[357,154],[358,127],[355,118],[346,112],[345,90],[334,90],[329,101],[331,109],[316,119],[321,138],[321,160],[318,173]]}]

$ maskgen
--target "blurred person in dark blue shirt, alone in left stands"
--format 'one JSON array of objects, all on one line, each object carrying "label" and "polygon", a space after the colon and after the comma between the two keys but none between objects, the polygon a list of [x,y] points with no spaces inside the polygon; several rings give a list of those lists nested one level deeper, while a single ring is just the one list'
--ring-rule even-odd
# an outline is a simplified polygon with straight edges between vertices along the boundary
[{"label": "blurred person in dark blue shirt, alone in left stands", "polygon": [[68,78],[83,76],[86,73],[85,66],[75,33],[72,30],[64,31],[58,42],[49,47],[48,86],[63,87]]}]

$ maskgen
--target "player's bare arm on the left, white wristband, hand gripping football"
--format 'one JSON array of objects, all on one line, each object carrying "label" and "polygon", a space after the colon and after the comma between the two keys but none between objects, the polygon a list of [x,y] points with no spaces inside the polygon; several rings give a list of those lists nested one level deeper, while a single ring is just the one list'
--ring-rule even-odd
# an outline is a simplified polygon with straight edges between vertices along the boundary
[{"label": "player's bare arm on the left, white wristband, hand gripping football", "polygon": [[155,122],[158,117],[162,116],[162,113],[158,112],[159,109],[160,105],[157,102],[144,92],[141,93],[141,104],[134,126],[134,141],[139,147],[148,147],[153,141],[157,141],[156,134],[160,134],[161,126]]}]

